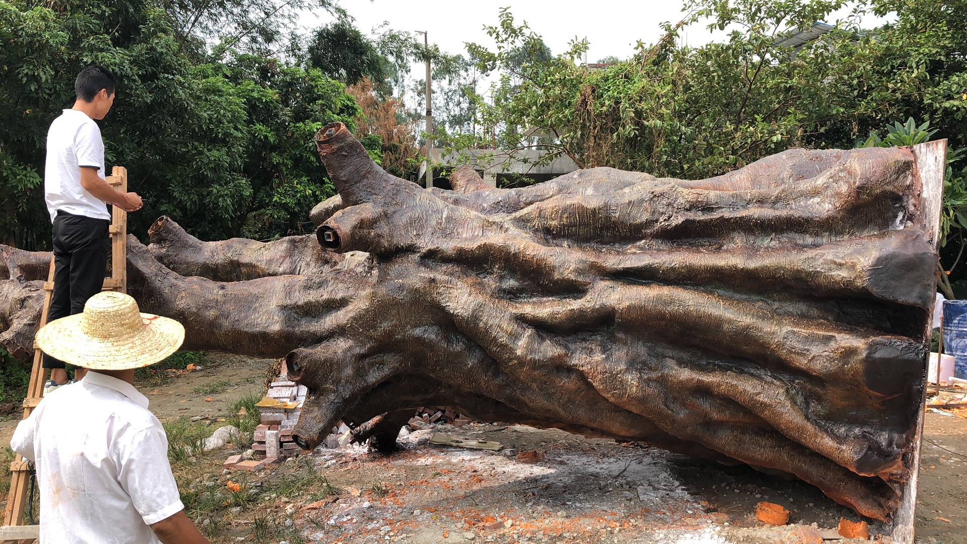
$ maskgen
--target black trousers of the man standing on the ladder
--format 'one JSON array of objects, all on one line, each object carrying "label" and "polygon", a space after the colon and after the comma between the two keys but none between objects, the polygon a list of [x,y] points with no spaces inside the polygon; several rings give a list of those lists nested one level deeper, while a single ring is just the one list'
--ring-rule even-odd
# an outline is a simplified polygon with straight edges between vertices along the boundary
[{"label": "black trousers of the man standing on the ladder", "polygon": [[[84,311],[88,298],[101,292],[107,268],[107,226],[94,219],[57,210],[54,218],[54,293],[47,321]],[[62,369],[64,362],[44,354],[45,369]]]}]

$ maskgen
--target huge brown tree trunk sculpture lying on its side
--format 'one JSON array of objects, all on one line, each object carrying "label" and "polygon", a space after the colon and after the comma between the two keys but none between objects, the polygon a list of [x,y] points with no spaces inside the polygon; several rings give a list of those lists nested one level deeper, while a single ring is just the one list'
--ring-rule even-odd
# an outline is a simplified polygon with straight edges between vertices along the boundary
[{"label": "huge brown tree trunk sculpture lying on its side", "polygon": [[[188,348],[285,356],[296,428],[381,449],[407,413],[642,440],[781,470],[888,520],[910,477],[935,234],[910,148],[790,150],[700,181],[600,167],[424,190],[340,124],[317,238],[131,238],[130,291]],[[318,240],[318,242],[316,241]],[[29,353],[48,256],[6,249],[0,340]]]}]

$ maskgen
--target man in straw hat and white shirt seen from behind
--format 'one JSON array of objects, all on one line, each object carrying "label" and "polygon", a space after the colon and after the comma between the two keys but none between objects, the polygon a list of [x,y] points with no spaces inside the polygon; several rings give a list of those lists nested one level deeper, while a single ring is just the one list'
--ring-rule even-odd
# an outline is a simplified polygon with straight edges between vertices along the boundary
[{"label": "man in straw hat and white shirt seen from behind", "polygon": [[178,321],[110,291],[38,331],[45,353],[88,369],[45,396],[11,440],[37,468],[42,543],[208,542],[185,514],[161,422],[132,384],[134,369],[184,340]]}]

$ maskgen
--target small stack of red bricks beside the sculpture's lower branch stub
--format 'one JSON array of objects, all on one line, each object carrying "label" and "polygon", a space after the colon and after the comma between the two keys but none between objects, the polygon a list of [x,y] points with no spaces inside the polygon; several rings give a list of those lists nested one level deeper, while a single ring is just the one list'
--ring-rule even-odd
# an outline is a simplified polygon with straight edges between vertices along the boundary
[{"label": "small stack of red bricks beside the sculpture's lower branch stub", "polygon": [[293,431],[299,421],[299,413],[306,402],[306,386],[291,381],[287,376],[285,363],[281,372],[269,385],[267,399],[278,401],[278,407],[259,407],[261,424],[255,427],[252,437],[252,461],[242,461],[241,456],[233,455],[225,460],[226,468],[259,470],[289,456],[311,453],[293,441]]}]

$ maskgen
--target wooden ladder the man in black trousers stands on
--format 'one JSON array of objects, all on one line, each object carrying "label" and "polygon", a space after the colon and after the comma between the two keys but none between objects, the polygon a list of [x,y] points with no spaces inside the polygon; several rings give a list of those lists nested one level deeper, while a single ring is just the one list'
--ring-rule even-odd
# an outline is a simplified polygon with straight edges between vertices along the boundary
[{"label": "wooden ladder the man in black trousers stands on", "polygon": [[[107,183],[122,193],[128,192],[128,169],[124,166],[114,166],[111,175],[106,178]],[[111,276],[104,278],[103,290],[127,292],[128,289],[128,214],[117,206],[112,206],[111,225],[108,234],[111,238]],[[50,257],[50,270],[47,281],[44,282],[44,311],[41,314],[41,326],[47,322],[50,310],[50,299],[54,290],[54,258]],[[44,352],[34,346],[34,366],[30,371],[30,383],[27,385],[27,397],[23,400],[23,419],[30,416],[30,412],[37,408],[44,396],[44,382],[47,371],[44,369]],[[24,513],[27,510],[28,491],[30,486],[30,468],[22,457],[17,455],[10,464],[12,473],[10,493],[7,496],[7,509],[4,511],[3,526],[0,527],[0,544],[26,544],[39,539],[39,526],[21,525],[25,522]]]}]

